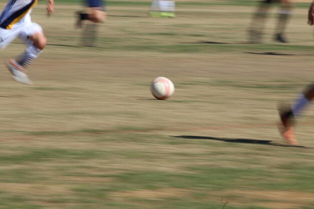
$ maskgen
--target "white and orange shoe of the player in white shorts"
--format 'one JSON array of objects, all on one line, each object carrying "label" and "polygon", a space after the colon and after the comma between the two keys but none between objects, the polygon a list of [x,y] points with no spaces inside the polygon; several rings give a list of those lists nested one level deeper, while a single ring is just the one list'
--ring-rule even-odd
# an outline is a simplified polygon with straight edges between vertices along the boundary
[{"label": "white and orange shoe of the player in white shorts", "polygon": [[7,60],[7,66],[14,80],[20,83],[33,85],[25,70],[14,59]]}]

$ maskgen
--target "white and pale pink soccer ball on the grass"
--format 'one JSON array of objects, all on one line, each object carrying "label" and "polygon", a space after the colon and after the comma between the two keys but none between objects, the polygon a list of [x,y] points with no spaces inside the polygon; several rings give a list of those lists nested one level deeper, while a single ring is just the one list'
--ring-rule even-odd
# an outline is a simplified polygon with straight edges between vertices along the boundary
[{"label": "white and pale pink soccer ball on the grass", "polygon": [[151,82],[150,91],[156,99],[166,100],[174,94],[175,86],[168,78],[157,77]]}]

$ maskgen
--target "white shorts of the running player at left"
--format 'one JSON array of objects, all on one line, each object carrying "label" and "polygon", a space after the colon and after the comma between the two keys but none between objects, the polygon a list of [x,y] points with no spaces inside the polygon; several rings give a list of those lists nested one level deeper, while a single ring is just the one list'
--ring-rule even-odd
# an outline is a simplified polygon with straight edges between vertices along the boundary
[{"label": "white shorts of the running player at left", "polygon": [[20,38],[25,44],[32,44],[29,37],[42,32],[43,29],[37,23],[26,21],[23,24],[15,24],[12,29],[0,28],[0,49],[6,48],[13,40]]}]

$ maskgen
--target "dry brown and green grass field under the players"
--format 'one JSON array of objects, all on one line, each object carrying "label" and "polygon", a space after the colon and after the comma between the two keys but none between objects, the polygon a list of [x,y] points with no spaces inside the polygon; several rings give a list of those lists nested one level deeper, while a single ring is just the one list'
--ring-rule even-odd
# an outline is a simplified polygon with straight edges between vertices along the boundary
[{"label": "dry brown and green grass field under the players", "polygon": [[[49,40],[34,86],[1,65],[1,209],[314,208],[314,109],[298,120],[300,147],[276,128],[277,104],[314,76],[307,4],[289,44],[272,41],[274,8],[265,44],[249,45],[256,1],[178,2],[175,19],[110,2],[98,47],[84,48],[75,2],[33,11]],[[24,47],[0,51],[2,63]],[[176,86],[168,101],[150,94],[157,76]]]}]

